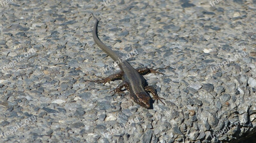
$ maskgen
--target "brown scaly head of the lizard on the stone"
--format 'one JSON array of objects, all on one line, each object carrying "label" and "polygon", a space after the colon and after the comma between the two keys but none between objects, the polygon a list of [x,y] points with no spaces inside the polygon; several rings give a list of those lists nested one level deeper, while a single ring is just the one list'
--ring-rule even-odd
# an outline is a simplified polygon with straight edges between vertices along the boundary
[{"label": "brown scaly head of the lizard on the stone", "polygon": [[150,96],[146,92],[139,92],[135,95],[137,98],[134,100],[134,102],[145,108],[150,107]]}]

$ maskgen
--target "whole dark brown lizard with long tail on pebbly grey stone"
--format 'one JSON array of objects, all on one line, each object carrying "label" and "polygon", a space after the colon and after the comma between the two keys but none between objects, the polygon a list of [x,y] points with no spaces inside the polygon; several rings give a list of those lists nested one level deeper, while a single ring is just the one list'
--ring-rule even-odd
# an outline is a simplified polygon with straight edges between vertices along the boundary
[{"label": "whole dark brown lizard with long tail on pebbly grey stone", "polygon": [[[99,21],[92,13],[91,13],[91,15],[95,20],[93,30],[92,30],[92,37],[93,37],[94,42],[96,43],[96,45],[98,45],[100,47],[100,49],[102,51],[104,51],[106,54],[108,54],[108,56],[110,56],[110,58],[112,58],[112,60],[118,61],[122,57],[119,54],[117,54],[115,51],[113,51],[110,47],[108,47],[104,43],[102,43],[100,41],[100,39],[98,38],[97,27],[98,27]],[[122,79],[123,82],[121,82],[116,87],[116,89],[110,91],[110,93],[113,91],[114,91],[114,94],[124,93],[122,88],[125,87],[125,89],[127,89],[127,91],[129,91],[130,97],[132,98],[132,100],[135,103],[139,104],[142,107],[150,108],[150,96],[148,94],[148,92],[150,92],[153,96],[152,99],[156,100],[157,102],[158,102],[158,100],[160,100],[164,104],[164,102],[161,99],[163,99],[163,100],[165,100],[165,99],[161,98],[157,95],[155,88],[153,86],[149,86],[141,74],[151,72],[151,73],[158,73],[158,74],[164,75],[163,73],[160,73],[156,70],[167,69],[170,66],[167,66],[165,68],[157,68],[157,69],[152,69],[152,68],[147,68],[147,67],[135,69],[126,60],[120,62],[118,64],[118,66],[121,69],[120,72],[109,75],[106,78],[100,77],[101,79],[89,80],[89,81],[96,82],[96,83],[103,83],[103,85],[105,85],[107,82],[110,82],[112,80]]]}]

